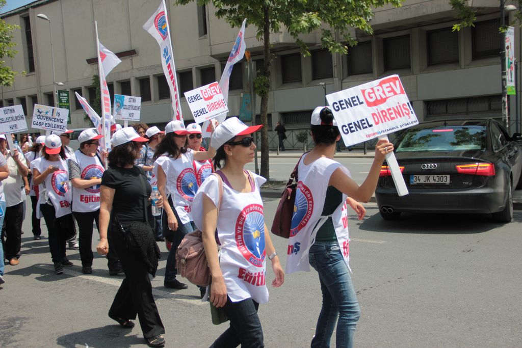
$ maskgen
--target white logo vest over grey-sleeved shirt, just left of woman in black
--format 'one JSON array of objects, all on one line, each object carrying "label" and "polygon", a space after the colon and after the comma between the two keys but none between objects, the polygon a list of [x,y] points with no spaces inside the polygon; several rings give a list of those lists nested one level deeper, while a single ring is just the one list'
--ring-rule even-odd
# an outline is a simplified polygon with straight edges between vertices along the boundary
[{"label": "white logo vest over grey-sleeved shirt, just left of woman in black", "polygon": [[[89,180],[101,179],[105,169],[97,155],[87,156],[80,150],[70,157],[80,167],[80,179]],[[100,190],[101,185],[94,185],[87,188],[73,187],[73,211],[91,212],[100,209]]]}]

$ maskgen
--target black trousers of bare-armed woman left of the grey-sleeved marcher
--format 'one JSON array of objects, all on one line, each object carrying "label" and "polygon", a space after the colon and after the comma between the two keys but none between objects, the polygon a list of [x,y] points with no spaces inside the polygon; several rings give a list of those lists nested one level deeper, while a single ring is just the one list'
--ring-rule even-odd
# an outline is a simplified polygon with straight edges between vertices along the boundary
[{"label": "black trousers of bare-armed woman left of the grey-sleeved marcher", "polygon": [[65,254],[65,246],[67,244],[67,236],[70,230],[74,230],[73,214],[67,214],[63,217],[56,218],[56,211],[50,204],[44,203],[40,205],[45,224],[49,233],[49,249],[51,249],[51,258],[53,262],[61,262]]}]

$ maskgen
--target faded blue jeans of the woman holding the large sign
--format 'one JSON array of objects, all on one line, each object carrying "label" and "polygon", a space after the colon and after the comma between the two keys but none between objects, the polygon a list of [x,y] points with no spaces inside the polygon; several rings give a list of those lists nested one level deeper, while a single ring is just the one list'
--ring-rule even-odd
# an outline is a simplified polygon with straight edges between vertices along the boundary
[{"label": "faded blue jeans of the woman holding the large sign", "polygon": [[336,346],[352,347],[355,325],[361,315],[350,271],[337,241],[315,242],[310,247],[310,266],[319,273],[323,307],[317,319],[312,347],[329,347],[337,318]]}]

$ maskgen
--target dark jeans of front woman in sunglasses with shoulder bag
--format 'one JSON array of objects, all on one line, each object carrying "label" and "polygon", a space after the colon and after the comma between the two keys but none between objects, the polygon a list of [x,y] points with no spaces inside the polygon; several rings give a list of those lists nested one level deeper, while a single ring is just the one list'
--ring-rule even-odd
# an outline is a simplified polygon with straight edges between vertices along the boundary
[{"label": "dark jeans of front woman in sunglasses with shoulder bag", "polygon": [[230,327],[212,343],[210,348],[262,348],[263,329],[257,316],[259,304],[252,298],[244,299],[240,302],[230,301],[227,296],[227,303],[223,307],[224,312],[230,320]]}]

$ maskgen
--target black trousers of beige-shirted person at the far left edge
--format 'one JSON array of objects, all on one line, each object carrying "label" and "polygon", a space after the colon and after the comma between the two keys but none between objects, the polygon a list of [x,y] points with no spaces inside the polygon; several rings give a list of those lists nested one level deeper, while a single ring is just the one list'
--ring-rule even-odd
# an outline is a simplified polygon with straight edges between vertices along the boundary
[{"label": "black trousers of beige-shirted person at the far left edge", "polygon": [[[4,245],[4,257],[7,260],[20,257],[20,248],[22,243],[22,221],[22,202],[16,206],[7,207],[5,209],[5,241],[2,238],[2,244]],[[2,233],[2,236],[3,235],[4,233]]]}]

